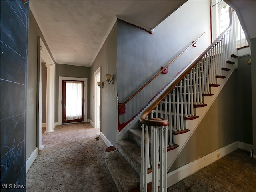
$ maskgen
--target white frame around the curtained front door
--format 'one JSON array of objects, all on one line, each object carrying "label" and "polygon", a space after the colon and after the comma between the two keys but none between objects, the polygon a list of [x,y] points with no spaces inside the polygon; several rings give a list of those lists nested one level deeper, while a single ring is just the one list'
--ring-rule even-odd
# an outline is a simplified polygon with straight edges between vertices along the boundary
[{"label": "white frame around the curtained front door", "polygon": [[87,88],[88,88],[88,79],[87,78],[78,78],[78,77],[62,77],[59,76],[59,98],[58,98],[58,125],[62,125],[62,80],[74,80],[74,81],[83,81],[84,82],[84,122],[87,120]]}]

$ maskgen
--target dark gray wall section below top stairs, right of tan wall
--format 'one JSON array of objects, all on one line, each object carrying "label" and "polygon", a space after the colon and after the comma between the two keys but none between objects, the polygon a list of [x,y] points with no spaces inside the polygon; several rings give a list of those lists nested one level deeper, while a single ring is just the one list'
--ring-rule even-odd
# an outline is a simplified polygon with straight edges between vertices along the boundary
[{"label": "dark gray wall section below top stairs, right of tan wall", "polygon": [[238,58],[236,70],[236,131],[237,140],[252,144],[252,83],[251,56]]}]

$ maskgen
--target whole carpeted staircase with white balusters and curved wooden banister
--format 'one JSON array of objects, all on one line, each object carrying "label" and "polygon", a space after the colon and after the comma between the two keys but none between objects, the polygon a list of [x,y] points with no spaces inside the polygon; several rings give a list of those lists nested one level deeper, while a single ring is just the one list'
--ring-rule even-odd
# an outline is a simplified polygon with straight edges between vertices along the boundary
[{"label": "whole carpeted staircase with white balusters and curved wooden banister", "polygon": [[105,150],[120,192],[167,192],[168,170],[235,69],[232,38],[231,19],[228,29],[146,108],[138,128],[128,130],[117,149]]}]

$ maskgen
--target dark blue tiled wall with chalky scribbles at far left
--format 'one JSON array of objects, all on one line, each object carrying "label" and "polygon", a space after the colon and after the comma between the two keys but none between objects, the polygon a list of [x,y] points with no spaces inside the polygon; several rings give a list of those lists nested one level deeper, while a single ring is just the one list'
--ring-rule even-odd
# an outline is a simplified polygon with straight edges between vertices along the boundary
[{"label": "dark blue tiled wall with chalky scribbles at far left", "polygon": [[1,191],[26,191],[7,188],[26,185],[29,2],[0,1],[0,7]]}]

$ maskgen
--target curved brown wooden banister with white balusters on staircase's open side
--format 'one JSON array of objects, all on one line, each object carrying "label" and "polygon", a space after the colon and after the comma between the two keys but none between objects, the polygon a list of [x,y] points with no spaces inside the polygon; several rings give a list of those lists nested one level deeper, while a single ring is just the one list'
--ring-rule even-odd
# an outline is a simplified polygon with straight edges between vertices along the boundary
[{"label": "curved brown wooden banister with white balusters on staircase's open side", "polygon": [[[160,192],[167,192],[167,150],[164,149],[174,145],[175,132],[186,130],[184,120],[196,117],[194,107],[205,106],[202,97],[213,95],[210,93],[210,87],[218,86],[216,78],[225,78],[222,76],[222,70],[228,71],[228,64],[234,64],[228,60],[234,47],[231,8],[229,16],[228,28],[198,59],[187,66],[140,116],[142,123],[140,191],[147,191],[150,179],[146,170],[151,166],[152,191],[158,191],[159,188]],[[148,147],[149,129],[152,139],[151,162],[149,162]]]}]

